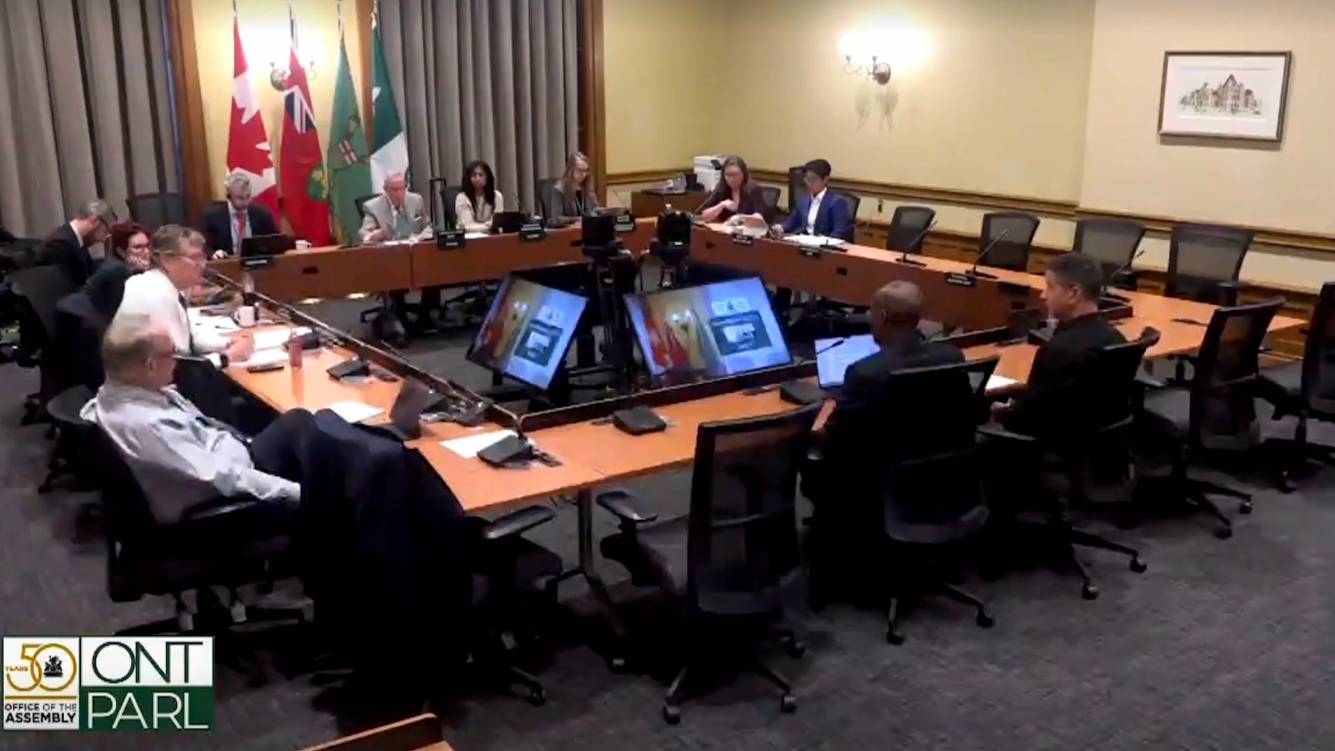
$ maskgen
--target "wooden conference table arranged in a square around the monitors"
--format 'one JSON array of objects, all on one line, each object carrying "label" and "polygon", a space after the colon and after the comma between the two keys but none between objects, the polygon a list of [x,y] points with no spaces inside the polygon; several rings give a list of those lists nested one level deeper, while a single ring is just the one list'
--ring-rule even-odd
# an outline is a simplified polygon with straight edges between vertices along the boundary
[{"label": "wooden conference table arranged in a square around the monitors", "polygon": [[[634,231],[623,235],[626,249],[642,253],[653,231],[651,222],[641,220]],[[849,245],[842,251],[812,254],[793,243],[766,238],[738,242],[716,227],[701,226],[693,233],[693,259],[756,271],[769,285],[842,302],[865,305],[881,285],[894,279],[913,281],[924,290],[926,318],[967,326],[1004,325],[1011,310],[1037,305],[1044,286],[1041,275],[1001,269],[987,269],[996,279],[976,279],[972,286],[961,286],[955,283],[959,277],[951,275],[963,274],[969,265],[922,255],[914,257],[922,266],[905,265],[897,261],[898,254],[873,247]],[[271,267],[251,274],[256,290],[278,301],[463,285],[501,278],[514,270],[583,261],[578,241],[579,230],[566,229],[551,231],[537,242],[502,235],[470,239],[465,247],[454,250],[441,250],[434,242],[307,249],[278,257]],[[218,261],[211,267],[232,279],[240,274],[235,259]],[[1132,315],[1116,321],[1128,338],[1145,326],[1161,333],[1159,343],[1147,354],[1151,358],[1196,351],[1206,333],[1204,323],[1215,309],[1212,305],[1147,293],[1117,290],[1117,294],[1132,306]],[[1270,330],[1275,333],[1303,323],[1296,318],[1275,317]],[[981,345],[967,349],[965,354],[969,358],[999,355],[996,373],[1023,384],[1035,351],[1032,345]],[[315,412],[336,402],[355,401],[387,414],[400,384],[380,380],[346,384],[326,374],[326,369],[348,357],[351,353],[347,350],[327,347],[307,353],[302,367],[250,373],[234,366],[227,373],[279,413],[290,409]],[[784,402],[776,390],[760,394],[733,392],[655,408],[670,425],[661,433],[631,437],[597,420],[527,433],[538,448],[559,460],[558,466],[535,462],[527,469],[497,469],[441,445],[442,441],[510,429],[513,425],[465,428],[451,422],[425,424],[422,437],[409,445],[435,468],[467,513],[495,513],[535,498],[574,494],[579,513],[578,571],[589,580],[595,597],[606,603],[593,555],[593,490],[690,465],[696,454],[696,433],[704,422],[760,417],[789,409],[792,405]],[[829,409],[830,405],[826,405],[822,420]]]}]

